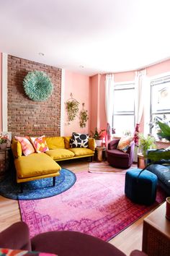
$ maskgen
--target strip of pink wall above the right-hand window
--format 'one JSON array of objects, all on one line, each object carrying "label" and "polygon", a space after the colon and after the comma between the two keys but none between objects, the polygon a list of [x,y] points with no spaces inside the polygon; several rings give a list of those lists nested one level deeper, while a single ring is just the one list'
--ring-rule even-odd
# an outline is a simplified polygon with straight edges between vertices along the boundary
[{"label": "strip of pink wall above the right-hand window", "polygon": [[160,63],[155,64],[151,67],[147,67],[146,71],[147,71],[148,77],[153,77],[157,74],[170,72],[170,59],[166,61],[161,61]]}]

